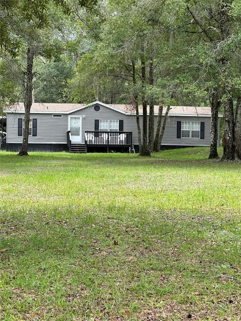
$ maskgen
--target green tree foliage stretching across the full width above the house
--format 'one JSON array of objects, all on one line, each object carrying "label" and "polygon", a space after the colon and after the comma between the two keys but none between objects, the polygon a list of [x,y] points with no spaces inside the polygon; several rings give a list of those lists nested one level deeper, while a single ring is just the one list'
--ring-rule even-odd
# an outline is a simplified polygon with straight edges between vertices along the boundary
[{"label": "green tree foliage stretching across the full width above the house", "polygon": [[[148,100],[154,99],[156,104],[163,101],[164,104],[207,105],[214,87],[221,88],[225,84],[234,97],[240,92],[238,0],[231,1],[232,33],[224,42],[220,42],[220,26],[215,19],[218,1],[109,0],[96,4],[94,1],[41,0],[31,2],[28,17],[25,16],[27,0],[13,0],[9,4],[16,10],[14,32],[9,32],[7,24],[1,24],[1,28],[6,44],[13,45],[8,46],[11,55],[20,55],[30,41],[36,55],[44,57],[44,61],[45,58],[55,61],[46,65],[47,75],[55,79],[51,80],[53,90],[46,86],[48,76],[43,74],[44,67],[39,62],[35,67],[36,97],[43,101],[61,100],[63,93],[63,101],[89,102],[98,97],[105,102],[130,102],[137,93],[140,101],[145,96]],[[83,5],[87,6],[87,11]],[[192,19],[187,5],[203,23],[213,43]],[[6,19],[10,7],[2,7]],[[27,21],[28,28],[24,23],[21,30],[18,29],[20,20]],[[20,32],[27,33],[27,38],[16,37]],[[68,62],[66,70],[62,58],[58,62],[60,55]],[[220,62],[222,56],[229,61],[225,71]],[[145,86],[140,78],[141,58],[146,63]],[[151,59],[154,85],[148,84]],[[132,61],[136,65],[135,86]],[[60,81],[56,82],[56,77]],[[66,78],[69,78],[68,84]]]}]

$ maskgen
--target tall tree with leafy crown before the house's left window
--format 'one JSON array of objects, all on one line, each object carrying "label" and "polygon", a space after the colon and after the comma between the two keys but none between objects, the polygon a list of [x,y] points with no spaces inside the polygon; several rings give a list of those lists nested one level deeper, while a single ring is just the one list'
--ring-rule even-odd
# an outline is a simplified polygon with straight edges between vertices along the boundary
[{"label": "tall tree with leafy crown before the house's left window", "polygon": [[[79,0],[80,6],[92,6],[94,0]],[[26,53],[26,68],[23,71],[23,98],[25,120],[23,143],[19,155],[28,155],[30,110],[33,103],[34,58],[49,56],[49,40],[54,34],[53,22],[59,15],[69,14],[71,8],[64,0],[13,0],[0,1],[1,56],[10,54],[17,57]],[[61,13],[60,13],[61,12]]]}]

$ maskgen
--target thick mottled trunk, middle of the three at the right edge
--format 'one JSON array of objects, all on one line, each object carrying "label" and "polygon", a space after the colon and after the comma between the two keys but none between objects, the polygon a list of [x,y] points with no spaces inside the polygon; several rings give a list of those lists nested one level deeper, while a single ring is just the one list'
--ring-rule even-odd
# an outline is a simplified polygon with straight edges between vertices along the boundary
[{"label": "thick mottled trunk, middle of the three at the right edge", "polygon": [[233,161],[234,148],[233,148],[233,135],[234,135],[234,115],[233,115],[233,101],[228,98],[223,103],[224,115],[224,135],[222,140],[223,154],[222,161]]}]

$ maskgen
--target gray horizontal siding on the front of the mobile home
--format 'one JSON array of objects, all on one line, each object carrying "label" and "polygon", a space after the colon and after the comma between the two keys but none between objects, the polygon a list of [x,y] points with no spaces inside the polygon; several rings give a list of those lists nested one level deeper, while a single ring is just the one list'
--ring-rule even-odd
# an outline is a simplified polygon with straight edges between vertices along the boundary
[{"label": "gray horizontal siding on the front of the mobile home", "polygon": [[[31,113],[31,118],[37,118],[37,136],[30,136],[30,143],[66,143],[66,132],[68,130],[69,115],[79,115],[82,117],[82,143],[84,143],[84,132],[94,131],[94,120],[123,120],[124,131],[133,132],[133,144],[138,144],[137,124],[134,115],[125,115],[118,111],[100,106],[99,111],[90,106],[71,114],[63,114],[63,117],[52,117],[52,114]],[[23,137],[18,136],[18,118],[24,118],[24,114],[9,113],[7,117],[8,142],[22,142]],[[142,116],[140,116],[142,128]],[[157,116],[155,117],[155,123]],[[177,138],[177,121],[203,121],[205,122],[204,139]],[[180,146],[200,146],[209,145],[210,142],[210,117],[188,117],[188,116],[169,116],[167,119],[166,130],[163,137],[165,145]],[[219,133],[218,133],[219,134]]]}]

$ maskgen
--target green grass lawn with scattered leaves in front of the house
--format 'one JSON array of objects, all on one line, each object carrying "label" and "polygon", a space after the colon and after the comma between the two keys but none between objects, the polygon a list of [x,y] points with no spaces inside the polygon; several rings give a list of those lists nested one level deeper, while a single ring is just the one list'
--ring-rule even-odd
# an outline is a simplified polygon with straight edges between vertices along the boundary
[{"label": "green grass lawn with scattered leaves in front of the house", "polygon": [[239,320],[240,164],[0,156],[1,320]]}]

